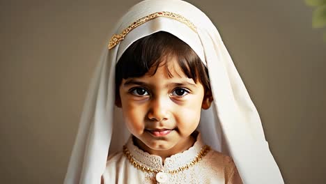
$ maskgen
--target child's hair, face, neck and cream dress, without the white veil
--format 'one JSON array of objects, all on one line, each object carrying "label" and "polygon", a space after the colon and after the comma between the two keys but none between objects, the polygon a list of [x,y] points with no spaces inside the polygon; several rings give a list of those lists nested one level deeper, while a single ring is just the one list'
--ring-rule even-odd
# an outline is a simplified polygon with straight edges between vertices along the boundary
[{"label": "child's hair, face, neck and cream dress, without the white veil", "polygon": [[195,131],[201,108],[212,102],[208,78],[199,56],[171,33],[125,50],[116,65],[116,106],[132,137],[109,158],[104,183],[242,183],[231,158]]}]

